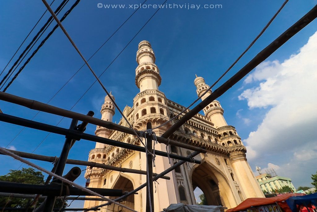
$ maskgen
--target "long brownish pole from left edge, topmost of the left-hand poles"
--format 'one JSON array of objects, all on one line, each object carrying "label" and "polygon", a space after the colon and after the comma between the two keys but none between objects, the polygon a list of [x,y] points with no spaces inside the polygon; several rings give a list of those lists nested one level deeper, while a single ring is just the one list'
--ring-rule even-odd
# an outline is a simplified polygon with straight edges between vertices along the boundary
[{"label": "long brownish pole from left edge, topmost of the left-hand poles", "polygon": [[[72,118],[72,119],[77,119],[77,120],[81,120],[81,121],[86,121],[88,123],[97,125],[97,126],[101,126],[101,127],[106,127],[108,129],[112,129],[112,130],[117,130],[123,133],[128,133],[131,135],[134,135],[134,132],[131,128],[128,127],[124,127],[109,121],[105,121],[105,120],[101,120],[101,119],[97,119],[94,117],[90,117],[88,115],[84,115],[81,113],[76,113],[73,111],[68,111],[59,107],[55,107],[55,106],[51,106],[48,104],[44,104],[42,102],[39,101],[35,101],[35,100],[31,100],[31,99],[25,99],[23,97],[19,97],[19,96],[15,96],[9,93],[5,93],[5,92],[0,92],[0,100],[3,101],[7,101],[7,102],[11,102],[17,105],[21,105],[21,106],[25,106],[28,107],[30,109],[33,110],[38,110],[38,111],[42,111],[42,112],[46,112],[46,113],[52,113],[55,115],[60,115],[60,116],[65,116],[68,118]],[[142,133],[141,131],[136,131],[136,133],[140,136]],[[182,147],[182,148],[186,148],[186,149],[190,149],[193,151],[197,151],[197,152],[201,152],[201,153],[206,153],[206,150],[199,148],[199,147],[194,147],[188,144],[184,144],[184,143],[180,143],[174,140],[168,140],[164,137],[159,137],[157,136],[157,140],[159,143],[164,143],[164,144],[170,144],[170,145],[174,145],[177,147]]]}]

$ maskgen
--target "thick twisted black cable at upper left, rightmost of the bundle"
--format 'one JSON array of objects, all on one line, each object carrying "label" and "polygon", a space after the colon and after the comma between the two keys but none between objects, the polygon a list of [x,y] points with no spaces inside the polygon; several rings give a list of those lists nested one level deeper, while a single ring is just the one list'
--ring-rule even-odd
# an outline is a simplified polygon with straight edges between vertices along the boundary
[{"label": "thick twisted black cable at upper left, rightmost of the bundle", "polygon": [[[64,14],[64,16],[61,18],[61,22],[65,20],[65,18],[68,16],[68,14],[77,6],[77,4],[80,2],[80,0],[77,0],[69,10]],[[49,32],[49,34],[42,40],[41,44],[36,48],[35,51],[33,51],[32,55],[27,59],[27,61],[22,65],[22,67],[19,69],[19,71],[14,75],[14,77],[11,79],[11,81],[8,83],[8,85],[3,89],[3,92],[5,92],[9,86],[12,84],[12,82],[17,78],[17,76],[22,72],[23,68],[30,62],[30,60],[33,58],[33,56],[36,54],[36,52],[43,46],[43,44],[49,39],[49,37],[54,33],[54,31],[58,28],[58,24],[56,24],[52,31]]]}]

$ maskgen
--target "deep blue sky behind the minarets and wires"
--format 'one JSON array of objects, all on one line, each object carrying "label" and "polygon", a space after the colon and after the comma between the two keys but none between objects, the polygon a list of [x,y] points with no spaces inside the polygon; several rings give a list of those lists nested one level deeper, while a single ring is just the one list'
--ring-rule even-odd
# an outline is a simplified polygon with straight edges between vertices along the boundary
[{"label": "deep blue sky behind the minarets and wires", "polygon": [[[55,9],[59,2],[55,1],[52,8]],[[64,14],[73,2],[73,0],[69,1],[61,14]],[[133,1],[133,3],[142,2]],[[159,4],[163,2],[148,0],[147,3]],[[155,51],[156,64],[161,71],[162,84],[159,89],[165,92],[168,99],[183,106],[188,106],[197,98],[196,88],[193,84],[195,73],[204,77],[206,83],[211,85],[244,51],[283,2],[281,0],[204,0],[195,1],[195,4],[222,4],[222,9],[161,9],[100,79],[108,90],[112,90],[120,108],[123,109],[126,105],[132,106],[132,99],[138,93],[138,88],[134,84],[134,71],[137,66],[135,61],[137,46],[141,40],[148,40]],[[131,4],[131,1],[82,0],[66,18],[63,25],[86,58],[89,58],[134,11],[133,9],[98,8],[98,3]],[[192,1],[167,1],[167,3],[187,4],[192,3]],[[256,44],[215,87],[229,79],[259,51],[313,8],[316,3],[316,0],[290,0]],[[139,9],[89,61],[98,75],[103,72],[130,39],[133,38],[155,10]],[[45,6],[41,1],[25,2],[12,0],[0,3],[0,18],[2,20],[0,22],[0,28],[2,29],[2,33],[0,33],[0,49],[2,50],[0,51],[1,71],[44,11]],[[46,13],[36,27],[35,32],[40,29],[48,18],[49,14]],[[49,30],[54,25],[55,22],[49,27]],[[309,37],[314,35],[316,29],[317,21],[315,20],[271,55],[267,62],[276,60],[279,61],[279,64],[282,64],[291,55],[298,54],[300,48],[307,44]],[[30,38],[35,35],[35,32],[31,34]],[[47,33],[48,31],[44,35]],[[27,41],[30,41],[30,38]],[[24,48],[25,46],[23,45]],[[312,61],[314,61],[314,58]],[[312,61],[307,61],[307,64]],[[10,65],[12,64],[11,62]],[[47,102],[81,65],[83,65],[82,59],[62,31],[57,29],[24,68],[7,92]],[[268,64],[268,67],[270,70],[275,68],[271,63]],[[261,72],[261,70],[262,68],[260,67],[256,71]],[[313,76],[306,75],[306,73],[303,73],[303,75],[307,79],[311,79]],[[1,79],[2,77],[3,75],[1,75]],[[314,174],[317,169],[316,164],[313,162],[315,159],[314,155],[316,155],[314,153],[316,152],[312,153],[312,157],[309,160],[294,161],[294,155],[296,156],[296,154],[299,155],[300,153],[296,153],[296,150],[292,149],[292,143],[288,144],[287,141],[282,143],[284,147],[289,147],[285,151],[275,151],[274,145],[277,145],[281,140],[268,144],[264,152],[260,152],[252,146],[256,141],[252,141],[249,137],[250,132],[257,132],[260,129],[259,126],[264,123],[265,118],[268,117],[269,112],[275,108],[276,104],[250,106],[253,96],[246,95],[245,91],[251,89],[248,91],[252,93],[254,91],[252,89],[256,89],[261,83],[266,81],[268,81],[268,78],[255,77],[254,80],[241,81],[232,87],[218,99],[225,110],[224,116],[228,124],[236,127],[239,135],[245,140],[246,146],[252,148],[253,154],[250,154],[249,163],[253,171],[255,171],[256,165],[262,168],[275,168],[278,174],[291,177],[295,187],[309,185],[310,174]],[[93,82],[94,77],[85,66],[50,104],[70,109]],[[294,86],[294,89],[301,89],[301,86]],[[285,94],[287,93],[289,91],[286,90]],[[93,110],[95,117],[100,117],[99,111],[104,96],[105,93],[100,85],[95,84],[74,107],[73,111],[87,113],[87,111]],[[301,102],[301,104],[303,103],[305,102]],[[316,103],[316,100],[313,103]],[[26,119],[31,119],[36,114],[36,111],[3,101],[0,101],[0,108],[4,113]],[[294,111],[294,113],[296,112]],[[314,110],[311,113],[316,114]],[[314,114],[311,115],[315,117]],[[114,120],[118,122],[120,118],[120,114],[117,112]],[[283,120],[284,117],[278,118]],[[58,116],[47,113],[40,113],[35,118],[36,121],[52,125],[56,125],[60,119]],[[309,124],[317,123],[316,119],[311,121]],[[69,124],[70,120],[65,118],[59,126],[68,127]],[[284,126],[284,124],[279,126]],[[297,127],[301,128],[300,125]],[[309,132],[305,132],[305,128],[303,128],[301,128],[301,133],[313,137]],[[0,146],[7,146],[21,129],[22,127],[20,126],[0,123]],[[89,125],[86,132],[93,134],[94,130],[95,126]],[[287,125],[279,130],[287,131]],[[45,132],[25,129],[13,140],[10,146],[19,151],[32,152],[46,135],[47,133]],[[263,136],[259,135],[260,138],[263,138]],[[59,155],[63,142],[63,136],[51,134],[36,149],[35,153],[52,156]],[[304,146],[304,140],[297,140],[297,143],[301,142],[303,143],[302,146]],[[310,142],[315,141],[312,140]],[[92,148],[94,148],[93,142],[78,141],[72,148],[69,158],[87,160],[88,152]],[[308,151],[306,150],[301,149],[301,155],[305,155]],[[8,173],[9,169],[16,169],[20,166],[19,162],[7,156],[0,156],[0,158],[3,161],[0,169],[1,175]],[[52,167],[50,163],[38,161],[36,163],[47,169]],[[84,184],[84,181],[83,176],[77,180],[81,185]]]}]

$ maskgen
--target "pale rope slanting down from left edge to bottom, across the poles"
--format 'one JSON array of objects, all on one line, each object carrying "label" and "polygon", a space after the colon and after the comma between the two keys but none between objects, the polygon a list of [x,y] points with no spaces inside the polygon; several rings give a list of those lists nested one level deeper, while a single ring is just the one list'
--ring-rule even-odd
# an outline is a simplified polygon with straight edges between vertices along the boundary
[{"label": "pale rope slanting down from left edge to bottom, across the poles", "polygon": [[[91,194],[91,195],[99,196],[100,198],[103,198],[103,199],[107,200],[108,202],[112,202],[112,203],[114,203],[114,204],[117,204],[117,205],[119,205],[119,206],[125,208],[125,209],[131,210],[131,211],[135,211],[135,210],[133,210],[133,209],[130,209],[130,208],[126,207],[125,205],[122,205],[122,204],[120,204],[120,203],[118,203],[118,202],[115,202],[115,201],[113,201],[113,200],[111,200],[111,199],[109,199],[109,198],[107,198],[107,197],[105,197],[105,196],[103,196],[103,195],[100,195],[100,194],[98,194],[98,193],[96,193],[96,192],[94,192],[94,191],[92,191],[92,190],[89,190],[89,189],[87,189],[87,188],[85,188],[85,187],[82,187],[82,186],[80,186],[80,185],[78,185],[78,184],[72,182],[72,181],[69,181],[69,180],[67,180],[67,179],[65,179],[65,178],[63,178],[63,177],[61,177],[61,176],[59,176],[59,175],[57,175],[57,174],[54,174],[54,173],[52,173],[52,172],[50,172],[50,171],[48,171],[48,170],[46,170],[46,169],[44,169],[44,168],[42,168],[42,167],[40,167],[40,166],[34,164],[34,163],[31,163],[31,162],[29,162],[29,161],[27,161],[27,160],[24,160],[24,159],[21,158],[20,156],[18,156],[18,155],[16,155],[16,154],[14,154],[14,153],[12,153],[12,152],[6,150],[6,149],[3,148],[3,147],[0,147],[0,152],[2,152],[3,154],[6,154],[6,155],[11,156],[12,158],[14,158],[14,159],[16,159],[16,160],[18,160],[18,161],[21,161],[21,162],[23,162],[23,163],[25,163],[25,164],[28,164],[29,166],[31,166],[31,167],[33,167],[33,168],[36,168],[36,169],[38,169],[38,170],[40,170],[40,171],[42,171],[42,172],[45,172],[46,174],[52,175],[53,177],[55,177],[55,178],[61,180],[62,182],[65,182],[65,183],[67,183],[67,184],[69,184],[69,185],[72,185],[72,186],[74,186],[74,187],[76,187],[76,188],[79,188],[79,189],[81,189],[82,191],[85,191],[85,192],[87,192],[87,193],[89,193],[89,194]],[[137,212],[137,211],[135,211],[135,212]]]}]

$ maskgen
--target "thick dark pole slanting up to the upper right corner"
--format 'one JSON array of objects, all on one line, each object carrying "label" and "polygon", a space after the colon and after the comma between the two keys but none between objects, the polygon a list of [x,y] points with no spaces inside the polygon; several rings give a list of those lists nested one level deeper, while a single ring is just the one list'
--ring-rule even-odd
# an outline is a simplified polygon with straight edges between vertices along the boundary
[{"label": "thick dark pole slanting up to the upper right corner", "polygon": [[314,6],[306,15],[304,15],[299,21],[288,28],[283,34],[275,39],[271,44],[269,44],[265,49],[260,51],[247,65],[245,65],[239,72],[237,72],[233,77],[228,79],[219,88],[212,92],[206,99],[200,102],[192,110],[181,117],[175,124],[173,124],[162,137],[168,138],[173,134],[180,126],[182,126],[186,121],[190,120],[194,115],[199,113],[204,107],[208,106],[212,101],[220,97],[224,92],[228,91],[233,85],[235,85],[239,80],[245,77],[249,72],[251,72],[257,65],[262,63],[271,54],[273,54],[278,48],[285,44],[290,38],[292,38],[297,32],[301,31],[305,26],[312,22],[317,17],[317,5]]}]

